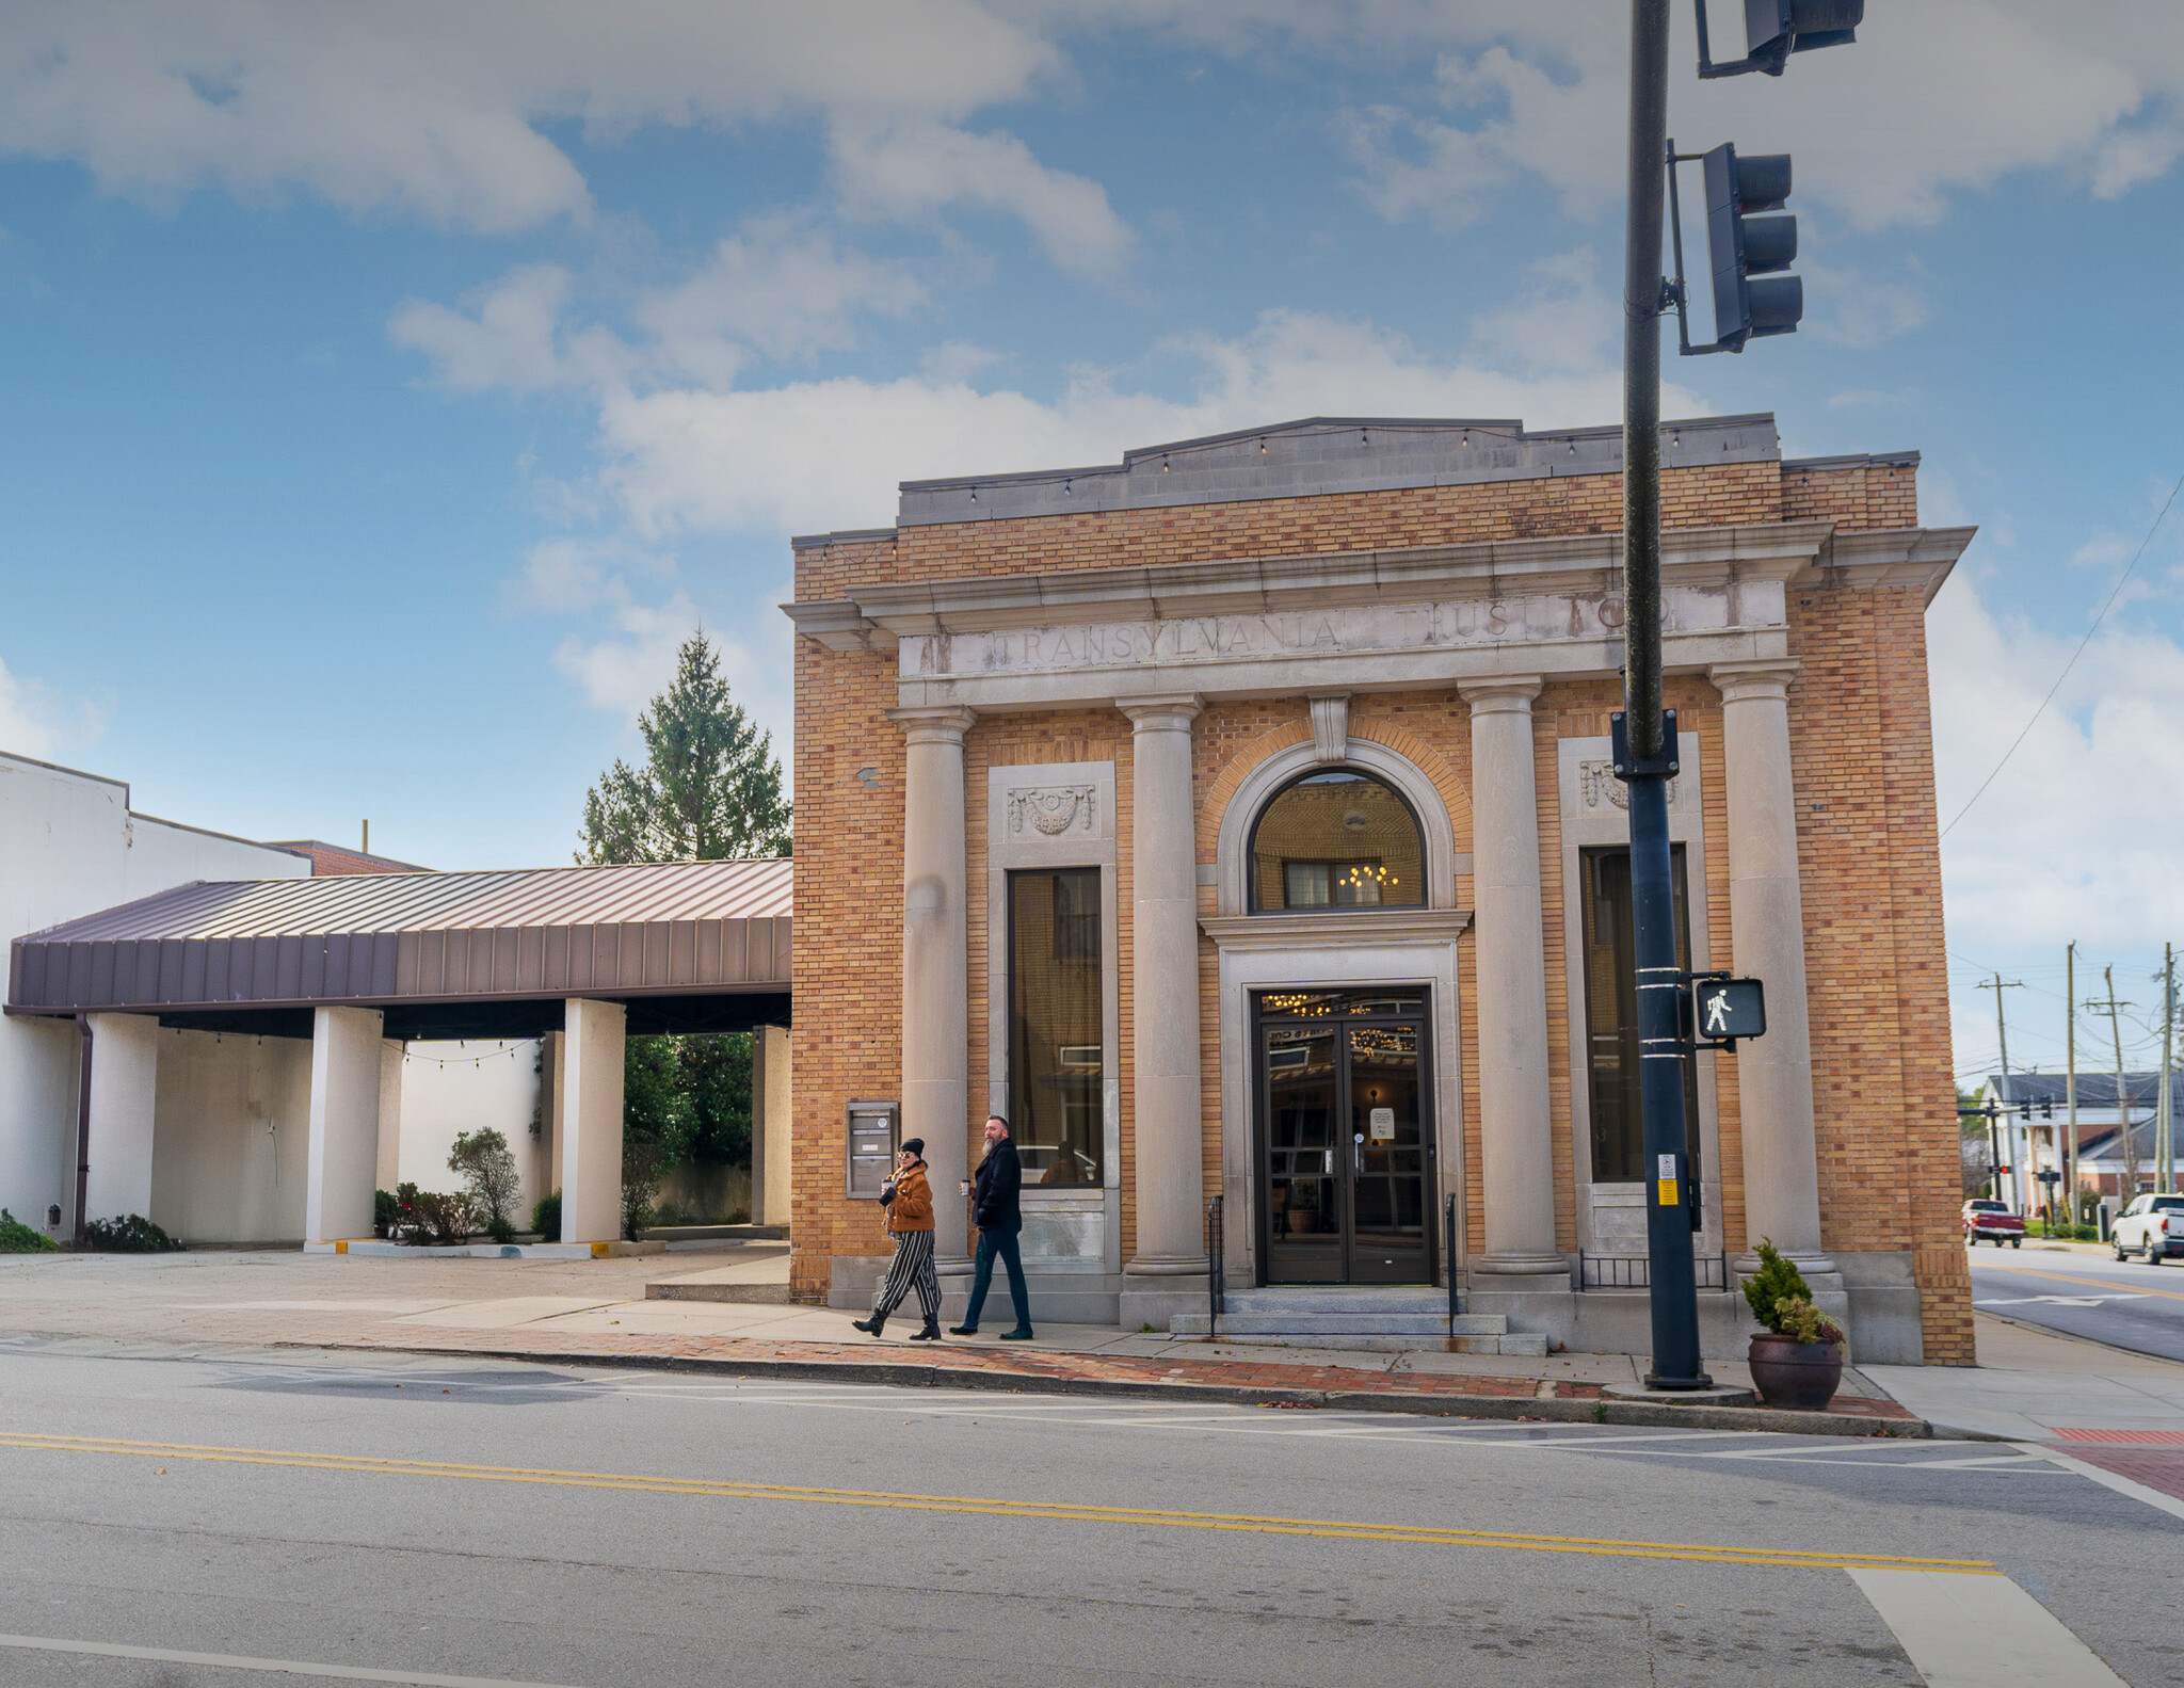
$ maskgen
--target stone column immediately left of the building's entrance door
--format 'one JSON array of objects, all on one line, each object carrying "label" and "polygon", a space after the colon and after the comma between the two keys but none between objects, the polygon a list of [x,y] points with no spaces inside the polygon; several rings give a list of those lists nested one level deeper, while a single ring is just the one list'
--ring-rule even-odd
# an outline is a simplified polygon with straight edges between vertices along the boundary
[{"label": "stone column immediately left of the building's entrance door", "polygon": [[[1129,699],[1131,1112],[1138,1251],[1123,1267],[1123,1323],[1166,1326],[1195,1308],[1206,1275],[1203,1079],[1199,1072],[1197,804],[1190,795],[1195,692]],[[1241,1219],[1241,1216],[1238,1216]],[[1171,1308],[1168,1301],[1175,1306]]]}]

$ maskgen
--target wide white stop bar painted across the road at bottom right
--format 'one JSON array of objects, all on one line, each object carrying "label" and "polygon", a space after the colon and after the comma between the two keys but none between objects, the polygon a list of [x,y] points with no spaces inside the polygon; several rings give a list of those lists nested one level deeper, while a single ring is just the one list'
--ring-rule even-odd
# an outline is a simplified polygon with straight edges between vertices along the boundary
[{"label": "wide white stop bar painted across the road at bottom right", "polygon": [[1852,1570],[1926,1688],[2129,1688],[2007,1577]]}]

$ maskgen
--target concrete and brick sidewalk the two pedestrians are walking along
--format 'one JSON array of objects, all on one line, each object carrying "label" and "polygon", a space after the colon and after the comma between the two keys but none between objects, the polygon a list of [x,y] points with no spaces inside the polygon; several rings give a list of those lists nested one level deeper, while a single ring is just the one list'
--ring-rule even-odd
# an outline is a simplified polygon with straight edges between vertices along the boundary
[{"label": "concrete and brick sidewalk the two pedestrians are walking along", "polygon": [[[402,1260],[330,1253],[0,1256],[0,1336],[472,1354],[539,1363],[719,1367],[745,1376],[954,1389],[1153,1393],[1267,1406],[1424,1411],[1693,1428],[1924,1435],[1856,1369],[1828,1413],[1616,1402],[1625,1354],[1356,1354],[1042,1326],[1033,1343],[882,1341],[854,1312],[780,1299],[786,1249],[675,1260]],[[646,1297],[646,1286],[657,1299]],[[732,1299],[666,1299],[708,1295]],[[898,1334],[900,1332],[900,1334]],[[1749,1387],[1738,1363],[1717,1382]]]}]

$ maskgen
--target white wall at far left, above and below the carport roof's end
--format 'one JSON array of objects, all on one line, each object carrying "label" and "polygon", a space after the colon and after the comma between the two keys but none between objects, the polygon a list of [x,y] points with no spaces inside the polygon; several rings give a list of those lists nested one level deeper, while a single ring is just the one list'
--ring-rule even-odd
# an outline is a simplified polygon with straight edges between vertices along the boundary
[{"label": "white wall at far left, above and below the carport roof's end", "polygon": [[[129,786],[0,749],[0,939],[190,880],[306,878],[286,849],[129,810]],[[76,1029],[0,1018],[0,1205],[74,1227]]]}]

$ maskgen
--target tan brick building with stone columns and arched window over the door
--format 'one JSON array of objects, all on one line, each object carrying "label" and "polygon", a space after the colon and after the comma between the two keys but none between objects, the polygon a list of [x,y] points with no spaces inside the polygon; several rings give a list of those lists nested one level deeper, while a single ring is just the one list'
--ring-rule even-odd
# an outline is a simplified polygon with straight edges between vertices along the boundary
[{"label": "tan brick building with stone columns and arched window over the door", "polygon": [[[1771,1009],[1690,1068],[1706,1352],[1771,1236],[1859,1356],[1968,1363],[1924,611],[1970,531],[1918,526],[1915,454],[1784,461],[1767,415],[1662,452],[1684,943]],[[1040,1317],[1203,1310],[1219,1197],[1227,1284],[1455,1273],[1645,1352],[1618,430],[906,483],[795,561],[804,1299],[887,1253],[854,1105],[943,1197],[996,1109]]]}]

